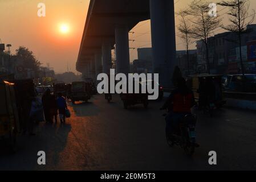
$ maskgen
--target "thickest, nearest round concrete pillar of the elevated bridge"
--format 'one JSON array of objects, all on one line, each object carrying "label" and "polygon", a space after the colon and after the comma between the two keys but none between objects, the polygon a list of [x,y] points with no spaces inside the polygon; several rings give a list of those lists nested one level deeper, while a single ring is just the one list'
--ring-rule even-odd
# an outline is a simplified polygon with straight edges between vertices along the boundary
[{"label": "thickest, nearest round concrete pillar of the elevated bridge", "polygon": [[172,86],[176,63],[173,0],[150,0],[153,70],[164,87]]}]

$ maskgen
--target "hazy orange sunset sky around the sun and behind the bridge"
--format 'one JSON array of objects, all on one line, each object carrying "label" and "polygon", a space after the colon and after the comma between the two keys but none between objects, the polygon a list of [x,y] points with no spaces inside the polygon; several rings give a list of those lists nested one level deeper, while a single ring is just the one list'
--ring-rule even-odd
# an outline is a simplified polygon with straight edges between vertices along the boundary
[{"label": "hazy orange sunset sky around the sun and behind the bridge", "polygon": [[[187,7],[191,1],[174,0],[176,11]],[[46,17],[43,18],[37,15],[40,2],[46,4]],[[67,71],[67,64],[75,72],[89,3],[90,0],[0,0],[0,39],[12,45],[12,53],[19,46],[29,48],[43,65],[49,63],[57,73]],[[256,1],[251,0],[250,7],[255,9]],[[218,7],[218,11],[222,9]],[[176,19],[176,25],[178,23]],[[66,27],[60,29],[63,24],[68,28],[66,34],[63,33]],[[131,31],[135,34],[129,34],[129,38],[136,41],[130,42],[130,47],[151,47],[150,20],[140,22]],[[184,49],[178,38],[176,45],[177,49]],[[136,58],[136,49],[131,49],[131,61]]]}]

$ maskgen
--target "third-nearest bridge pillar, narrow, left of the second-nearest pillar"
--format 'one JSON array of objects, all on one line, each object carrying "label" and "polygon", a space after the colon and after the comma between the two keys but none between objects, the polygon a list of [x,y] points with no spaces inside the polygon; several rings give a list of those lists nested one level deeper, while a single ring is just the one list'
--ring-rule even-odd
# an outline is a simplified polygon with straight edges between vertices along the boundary
[{"label": "third-nearest bridge pillar, narrow, left of the second-nearest pillar", "polygon": [[103,73],[109,74],[109,69],[111,69],[111,43],[108,40],[104,40],[101,47],[102,51],[102,66]]}]

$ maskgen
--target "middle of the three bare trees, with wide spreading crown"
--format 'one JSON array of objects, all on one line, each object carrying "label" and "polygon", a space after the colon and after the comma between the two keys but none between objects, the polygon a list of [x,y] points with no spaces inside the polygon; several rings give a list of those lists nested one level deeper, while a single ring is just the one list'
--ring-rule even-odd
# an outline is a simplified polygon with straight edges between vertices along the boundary
[{"label": "middle of the three bare trees, with wide spreading crown", "polygon": [[196,40],[201,40],[204,42],[206,47],[206,63],[208,68],[208,73],[210,73],[210,60],[209,60],[209,38],[213,34],[214,30],[220,26],[221,18],[217,16],[210,16],[209,12],[211,7],[209,7],[208,2],[201,0],[194,0],[189,5],[189,9],[186,10],[186,14],[192,16],[190,22],[192,22],[192,27],[190,28],[189,35]]}]

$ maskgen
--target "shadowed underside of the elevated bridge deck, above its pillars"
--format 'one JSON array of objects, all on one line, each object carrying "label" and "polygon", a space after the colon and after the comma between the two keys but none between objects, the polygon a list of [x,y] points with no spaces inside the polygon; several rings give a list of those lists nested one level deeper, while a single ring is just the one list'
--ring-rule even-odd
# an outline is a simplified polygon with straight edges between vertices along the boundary
[{"label": "shadowed underside of the elevated bridge deck, above its pillars", "polygon": [[104,40],[108,40],[113,48],[116,25],[125,24],[131,30],[149,18],[149,0],[90,1],[76,69],[84,71],[85,65],[101,50]]}]

